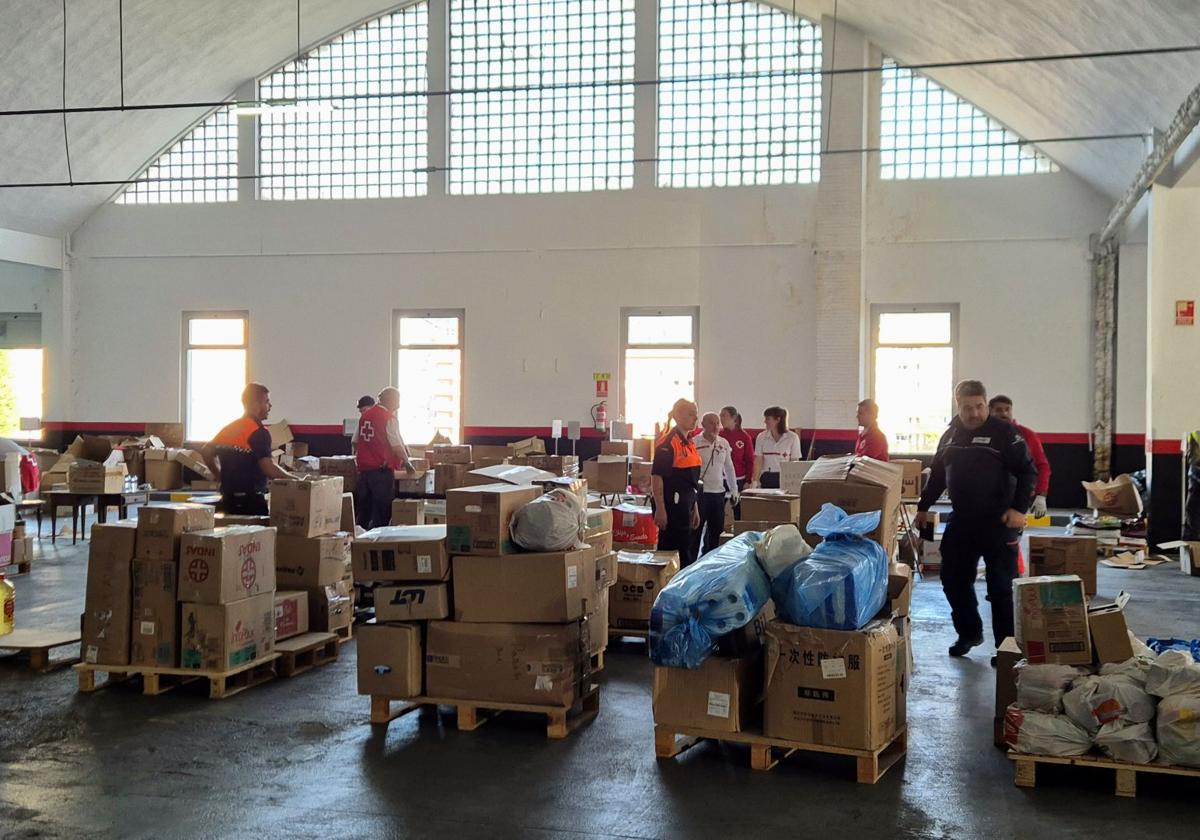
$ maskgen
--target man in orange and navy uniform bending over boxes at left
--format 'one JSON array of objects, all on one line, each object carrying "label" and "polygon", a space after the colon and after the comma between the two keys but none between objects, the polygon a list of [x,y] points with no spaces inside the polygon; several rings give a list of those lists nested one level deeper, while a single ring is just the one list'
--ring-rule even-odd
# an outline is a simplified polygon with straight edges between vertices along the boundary
[{"label": "man in orange and navy uniform bending over boxes at left", "polygon": [[294,479],[271,457],[271,392],[252,382],[241,392],[246,413],[216,433],[200,455],[221,482],[218,508],[226,514],[266,516],[266,480]]}]

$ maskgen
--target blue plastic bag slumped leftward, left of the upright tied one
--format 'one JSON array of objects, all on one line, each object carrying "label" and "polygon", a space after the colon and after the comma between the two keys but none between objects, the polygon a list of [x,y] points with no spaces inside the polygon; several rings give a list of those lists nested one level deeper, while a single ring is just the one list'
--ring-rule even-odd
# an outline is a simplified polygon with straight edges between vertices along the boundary
[{"label": "blue plastic bag slumped leftward, left of the upright tied one", "polygon": [[758,565],[757,532],[738,534],[671,578],[650,611],[650,659],[676,668],[698,668],[720,636],[754,620],[770,598],[770,580]]}]

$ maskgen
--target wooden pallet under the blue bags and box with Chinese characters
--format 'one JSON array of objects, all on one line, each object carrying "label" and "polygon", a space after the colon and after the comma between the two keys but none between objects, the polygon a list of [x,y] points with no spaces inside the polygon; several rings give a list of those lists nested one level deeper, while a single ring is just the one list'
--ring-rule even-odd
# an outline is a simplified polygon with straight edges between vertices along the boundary
[{"label": "wooden pallet under the blue bags and box with Chinese characters", "polygon": [[824,744],[768,738],[761,732],[713,732],[692,727],[659,725],[654,727],[654,755],[659,758],[674,758],[702,740],[749,744],[750,767],[756,770],[769,770],[793,752],[827,752],[851,756],[857,761],[857,780],[860,785],[877,782],[908,751],[907,728],[900,730],[890,742],[876,750],[854,750],[845,746],[826,746]]}]

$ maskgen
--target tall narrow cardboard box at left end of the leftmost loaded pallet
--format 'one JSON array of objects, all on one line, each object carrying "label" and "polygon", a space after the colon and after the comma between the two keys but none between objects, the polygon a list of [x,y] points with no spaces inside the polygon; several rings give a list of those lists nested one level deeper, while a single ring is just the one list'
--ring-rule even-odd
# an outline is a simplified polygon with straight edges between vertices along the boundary
[{"label": "tall narrow cardboard box at left end of the leftmost loaded pallet", "polygon": [[130,664],[136,550],[137,522],[91,527],[79,643],[79,659],[89,665]]}]

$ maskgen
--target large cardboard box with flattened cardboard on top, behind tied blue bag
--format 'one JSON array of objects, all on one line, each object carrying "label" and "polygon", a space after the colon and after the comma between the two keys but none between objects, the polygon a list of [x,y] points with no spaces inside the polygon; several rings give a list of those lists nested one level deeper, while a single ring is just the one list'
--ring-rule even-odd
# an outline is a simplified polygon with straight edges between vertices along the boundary
[{"label": "large cardboard box with flattened cardboard on top, behind tied blue bag", "polygon": [[[890,553],[896,540],[902,478],[904,470],[900,467],[875,458],[853,455],[818,458],[800,482],[799,526],[804,540],[809,545],[821,541],[806,526],[809,520],[821,512],[821,505],[829,502],[847,514],[881,511],[880,527],[868,536]],[[745,516],[745,502],[742,504]]]}]

